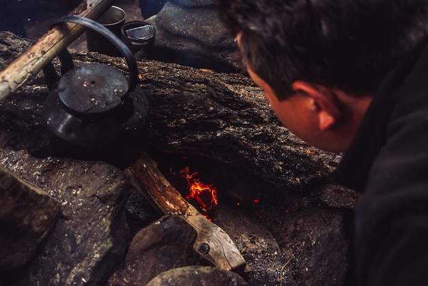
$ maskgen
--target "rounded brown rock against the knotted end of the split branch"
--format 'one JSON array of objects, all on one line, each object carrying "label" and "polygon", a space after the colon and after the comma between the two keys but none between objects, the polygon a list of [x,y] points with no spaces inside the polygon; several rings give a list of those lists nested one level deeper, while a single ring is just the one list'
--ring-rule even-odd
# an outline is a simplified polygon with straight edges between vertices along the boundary
[{"label": "rounded brown rock against the knotted end of the split branch", "polygon": [[153,222],[133,237],[125,258],[123,283],[146,285],[161,272],[198,263],[193,251],[195,239],[195,229],[183,218],[163,216]]}]

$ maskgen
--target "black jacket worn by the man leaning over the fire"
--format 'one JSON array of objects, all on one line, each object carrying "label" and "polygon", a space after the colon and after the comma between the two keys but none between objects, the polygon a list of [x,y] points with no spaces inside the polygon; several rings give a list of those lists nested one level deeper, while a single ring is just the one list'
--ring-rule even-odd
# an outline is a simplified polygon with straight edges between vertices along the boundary
[{"label": "black jacket worn by the man leaning over the fire", "polygon": [[428,46],[384,79],[334,179],[363,192],[359,285],[428,285]]}]

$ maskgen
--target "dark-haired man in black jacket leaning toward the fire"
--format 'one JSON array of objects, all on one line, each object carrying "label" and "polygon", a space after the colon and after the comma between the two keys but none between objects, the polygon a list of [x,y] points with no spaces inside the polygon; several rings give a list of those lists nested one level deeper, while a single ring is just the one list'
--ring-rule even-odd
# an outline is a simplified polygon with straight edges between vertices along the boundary
[{"label": "dark-haired man in black jacket leaning toward the fire", "polygon": [[282,123],[345,152],[359,285],[428,285],[428,0],[218,0]]}]

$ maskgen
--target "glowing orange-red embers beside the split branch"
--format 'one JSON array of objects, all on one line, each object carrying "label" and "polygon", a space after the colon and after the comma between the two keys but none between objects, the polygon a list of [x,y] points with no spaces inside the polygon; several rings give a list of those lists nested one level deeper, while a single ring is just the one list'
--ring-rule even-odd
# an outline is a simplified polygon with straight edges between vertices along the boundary
[{"label": "glowing orange-red embers beside the split branch", "polygon": [[211,218],[215,206],[217,205],[217,188],[211,184],[202,183],[195,176],[198,172],[189,174],[189,167],[180,171],[180,175],[187,179],[187,191],[185,196],[186,200],[196,205],[205,218]]}]

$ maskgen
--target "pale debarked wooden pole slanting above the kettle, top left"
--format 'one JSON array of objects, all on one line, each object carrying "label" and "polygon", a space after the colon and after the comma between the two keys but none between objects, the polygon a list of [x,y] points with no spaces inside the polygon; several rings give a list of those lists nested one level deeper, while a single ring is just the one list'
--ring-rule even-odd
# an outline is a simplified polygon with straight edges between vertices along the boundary
[{"label": "pale debarked wooden pole slanting above the kettle, top left", "polygon": [[[83,0],[70,15],[96,19],[116,0]],[[73,23],[60,23],[50,29],[27,52],[0,72],[0,101],[15,92],[25,81],[68,47],[85,27]]]}]

